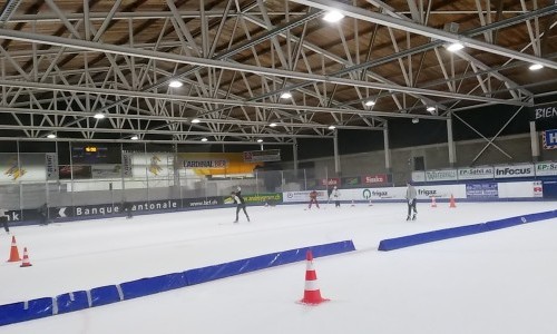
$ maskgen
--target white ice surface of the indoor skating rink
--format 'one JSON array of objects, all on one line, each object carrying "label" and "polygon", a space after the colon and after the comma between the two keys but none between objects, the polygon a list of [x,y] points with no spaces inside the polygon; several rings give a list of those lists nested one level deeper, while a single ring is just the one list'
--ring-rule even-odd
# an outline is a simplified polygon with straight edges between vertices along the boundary
[{"label": "white ice surface of the indoor skating rink", "polygon": [[[529,213],[556,203],[248,207],[12,227],[32,267],[0,264],[0,304],[352,239],[356,252],[315,258],[321,294],[297,304],[305,263],[238,275],[42,320],[3,333],[557,333],[557,219],[378,252],[379,240]],[[10,236],[0,235],[8,258]]]}]

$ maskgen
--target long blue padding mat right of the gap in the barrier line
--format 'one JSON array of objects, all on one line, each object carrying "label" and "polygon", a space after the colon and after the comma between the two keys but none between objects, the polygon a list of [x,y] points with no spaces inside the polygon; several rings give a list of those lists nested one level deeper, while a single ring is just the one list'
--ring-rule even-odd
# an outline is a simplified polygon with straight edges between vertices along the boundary
[{"label": "long blue padding mat right of the gap in the barrier line", "polygon": [[481,224],[466,225],[439,230],[431,230],[420,234],[402,236],[392,239],[384,239],[379,243],[379,250],[393,250],[426,243],[432,243],[460,236],[478,234],[483,232],[496,230],[506,227],[512,227],[520,224],[532,223],[537,220],[551,219],[557,217],[557,210],[529,214],[524,216],[516,216],[504,218],[499,220],[491,220]]}]

